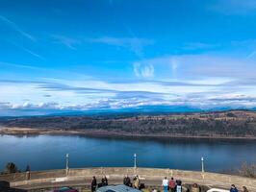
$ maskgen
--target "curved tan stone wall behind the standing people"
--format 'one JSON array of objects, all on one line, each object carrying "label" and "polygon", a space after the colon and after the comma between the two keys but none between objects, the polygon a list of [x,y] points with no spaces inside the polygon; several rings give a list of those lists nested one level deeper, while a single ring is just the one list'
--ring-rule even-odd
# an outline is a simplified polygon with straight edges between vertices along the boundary
[{"label": "curved tan stone wall behind the standing people", "polygon": [[[66,176],[67,173],[67,176]],[[236,184],[239,188],[245,185],[249,191],[256,192],[256,180],[243,178],[239,176],[230,176],[217,173],[201,173],[196,171],[183,171],[172,169],[155,169],[155,168],[124,168],[124,167],[108,167],[108,168],[85,168],[85,169],[69,169],[66,170],[50,170],[50,171],[38,171],[27,173],[17,173],[10,175],[0,176],[0,180],[10,181],[11,186],[26,186],[42,183],[58,183],[58,182],[70,182],[70,181],[83,181],[90,180],[92,176],[101,178],[102,175],[109,177],[109,180],[121,180],[124,175],[134,176],[139,175],[141,180],[145,180],[150,183],[161,184],[161,180],[164,177],[174,177],[175,179],[183,180],[184,183],[197,182],[199,184],[208,186],[218,186],[223,188],[229,188],[231,184]],[[28,180],[29,179],[29,180]]]}]

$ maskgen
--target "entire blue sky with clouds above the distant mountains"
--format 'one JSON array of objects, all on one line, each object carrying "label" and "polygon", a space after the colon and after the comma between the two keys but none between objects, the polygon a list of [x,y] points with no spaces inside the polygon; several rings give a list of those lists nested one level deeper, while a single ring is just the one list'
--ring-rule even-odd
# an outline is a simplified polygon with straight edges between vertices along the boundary
[{"label": "entire blue sky with clouds above the distant mountains", "polygon": [[0,0],[0,116],[256,108],[254,0]]}]

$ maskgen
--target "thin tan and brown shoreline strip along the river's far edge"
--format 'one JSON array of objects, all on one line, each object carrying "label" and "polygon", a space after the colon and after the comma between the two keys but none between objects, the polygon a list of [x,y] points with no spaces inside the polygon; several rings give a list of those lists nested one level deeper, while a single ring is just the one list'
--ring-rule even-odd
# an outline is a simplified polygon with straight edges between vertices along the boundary
[{"label": "thin tan and brown shoreline strip along the river's far edge", "polygon": [[227,135],[184,135],[184,134],[140,134],[130,132],[109,132],[106,130],[64,130],[64,129],[32,129],[17,127],[0,127],[2,135],[81,135],[91,137],[115,137],[115,138],[180,138],[180,139],[241,139],[256,140],[256,136],[227,136]]}]

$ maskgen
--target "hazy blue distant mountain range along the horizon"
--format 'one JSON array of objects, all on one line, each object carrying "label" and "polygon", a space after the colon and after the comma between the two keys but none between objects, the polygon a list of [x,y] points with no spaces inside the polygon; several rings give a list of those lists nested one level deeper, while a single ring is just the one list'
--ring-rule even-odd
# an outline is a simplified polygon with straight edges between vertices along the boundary
[{"label": "hazy blue distant mountain range along the horizon", "polygon": [[[0,108],[0,118],[15,117],[15,116],[71,116],[71,115],[106,115],[115,113],[141,113],[141,114],[163,114],[175,112],[210,112],[210,111],[224,111],[231,109],[246,109],[246,108],[231,108],[231,107],[213,107],[213,108],[196,108],[193,106],[163,106],[163,105],[150,105],[131,108],[90,108],[87,110],[80,109],[58,109],[58,108],[9,108],[4,111]],[[256,108],[250,108],[256,110]]]}]

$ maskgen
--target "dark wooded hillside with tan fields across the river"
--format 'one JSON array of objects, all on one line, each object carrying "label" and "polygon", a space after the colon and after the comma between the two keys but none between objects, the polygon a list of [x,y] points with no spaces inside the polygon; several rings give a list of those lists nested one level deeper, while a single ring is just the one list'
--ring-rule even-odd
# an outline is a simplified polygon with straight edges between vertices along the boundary
[{"label": "dark wooded hillside with tan fields across the river", "polygon": [[[55,115],[0,119],[3,128],[33,129],[38,133],[80,133],[88,135],[246,137],[256,138],[256,112],[228,110],[176,113],[106,113]],[[10,129],[9,129],[10,131]],[[24,132],[22,132],[24,133]],[[31,133],[28,130],[26,133]]]}]

